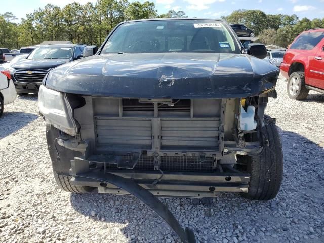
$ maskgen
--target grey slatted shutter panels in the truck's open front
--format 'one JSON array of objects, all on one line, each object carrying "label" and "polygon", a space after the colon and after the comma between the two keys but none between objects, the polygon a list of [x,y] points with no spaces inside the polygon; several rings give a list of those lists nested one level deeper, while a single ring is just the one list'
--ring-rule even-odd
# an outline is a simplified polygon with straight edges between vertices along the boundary
[{"label": "grey slatted shutter panels in the truck's open front", "polygon": [[217,150],[219,120],[95,117],[97,147],[152,149],[158,138],[161,150]]}]

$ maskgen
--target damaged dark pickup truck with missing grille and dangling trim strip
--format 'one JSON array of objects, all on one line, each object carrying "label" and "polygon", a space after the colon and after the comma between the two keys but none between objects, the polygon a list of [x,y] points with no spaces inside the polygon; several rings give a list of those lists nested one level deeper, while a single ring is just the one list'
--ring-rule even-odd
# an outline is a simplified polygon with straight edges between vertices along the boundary
[{"label": "damaged dark pickup truck with missing grille and dangling trim strip", "polygon": [[261,60],[264,45],[244,52],[222,20],[136,20],[51,70],[38,105],[57,184],[133,194],[184,242],[192,231],[155,196],[274,198],[282,149],[264,112],[279,70]]}]

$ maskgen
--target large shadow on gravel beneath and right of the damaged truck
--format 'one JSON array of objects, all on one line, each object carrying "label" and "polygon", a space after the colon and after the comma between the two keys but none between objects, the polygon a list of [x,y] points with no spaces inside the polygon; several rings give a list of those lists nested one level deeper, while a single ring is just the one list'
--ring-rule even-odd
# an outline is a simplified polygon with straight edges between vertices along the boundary
[{"label": "large shadow on gravel beneath and right of the damaged truck", "polygon": [[[309,225],[315,230],[314,238],[303,242],[324,242],[324,236],[316,231],[321,225],[314,224],[309,216],[322,212],[318,208],[324,200],[324,149],[297,133],[279,133],[285,164],[281,189],[275,199],[251,201],[238,193],[223,193],[212,199],[211,204],[195,204],[192,199],[160,200],[183,227],[195,231],[198,242],[221,242],[228,235],[229,242],[233,237],[243,236],[249,242],[291,242],[295,240],[291,235],[309,235]],[[71,194],[70,202],[77,212],[96,221],[96,227],[102,227],[102,242],[166,242],[168,237],[180,242],[157,214],[133,196]],[[116,232],[119,238],[104,240],[118,235]]]}]

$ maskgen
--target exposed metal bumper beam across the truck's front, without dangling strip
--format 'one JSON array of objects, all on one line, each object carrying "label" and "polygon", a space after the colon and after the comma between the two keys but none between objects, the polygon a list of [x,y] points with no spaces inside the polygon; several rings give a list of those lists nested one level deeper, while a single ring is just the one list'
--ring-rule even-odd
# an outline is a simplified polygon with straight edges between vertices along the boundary
[{"label": "exposed metal bumper beam across the truck's front, without dangling strip", "polygon": [[[131,179],[153,195],[163,197],[216,197],[219,192],[248,192],[250,175],[226,167],[215,172],[175,172],[143,170],[106,170],[98,163],[89,169],[89,161],[82,158],[72,160],[72,183],[77,186],[98,187],[100,193],[130,194],[111,183],[102,184],[96,178],[117,175]],[[78,177],[88,173],[92,178]],[[158,182],[157,182],[158,181]]]}]

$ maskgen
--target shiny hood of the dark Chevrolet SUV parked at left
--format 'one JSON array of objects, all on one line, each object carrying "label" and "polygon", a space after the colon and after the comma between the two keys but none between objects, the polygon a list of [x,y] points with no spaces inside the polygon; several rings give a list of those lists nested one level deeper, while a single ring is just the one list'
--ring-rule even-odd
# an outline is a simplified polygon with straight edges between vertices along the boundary
[{"label": "shiny hood of the dark Chevrolet SUV parked at left", "polygon": [[66,62],[68,62],[69,59],[52,59],[52,60],[46,60],[46,59],[25,59],[21,60],[16,64],[13,64],[13,68],[19,68],[19,69],[45,69],[45,68],[54,68],[59,65],[62,65]]}]

